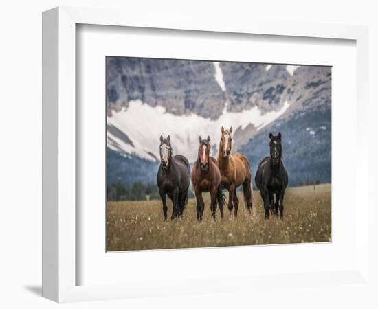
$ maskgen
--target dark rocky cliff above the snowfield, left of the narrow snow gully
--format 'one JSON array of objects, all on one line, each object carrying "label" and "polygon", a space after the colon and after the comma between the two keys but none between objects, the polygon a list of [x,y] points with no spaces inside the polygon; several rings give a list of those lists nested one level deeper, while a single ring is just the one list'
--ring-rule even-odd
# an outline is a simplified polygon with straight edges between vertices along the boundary
[{"label": "dark rocky cliff above the snowfield, left of the narrow snow gully", "polygon": [[173,115],[216,119],[224,93],[214,74],[213,63],[206,61],[107,57],[108,115],[140,100]]}]

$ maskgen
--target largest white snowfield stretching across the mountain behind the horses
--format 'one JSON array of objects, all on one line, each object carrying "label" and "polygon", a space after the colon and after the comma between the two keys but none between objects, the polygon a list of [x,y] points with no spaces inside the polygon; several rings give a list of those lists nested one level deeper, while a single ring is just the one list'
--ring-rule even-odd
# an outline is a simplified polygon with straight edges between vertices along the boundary
[{"label": "largest white snowfield stretching across the mountain behind the horses", "polygon": [[107,118],[108,125],[117,128],[129,140],[125,141],[122,135],[115,135],[108,130],[107,144],[112,150],[123,152],[124,155],[137,155],[156,161],[159,158],[160,135],[170,135],[174,151],[186,155],[192,162],[197,159],[199,135],[203,138],[210,136],[212,155],[216,156],[214,152],[217,151],[221,138],[221,126],[233,126],[236,131],[252,124],[256,130],[260,130],[285,113],[288,107],[288,102],[285,102],[280,110],[267,113],[262,113],[257,106],[243,112],[227,111],[225,107],[218,119],[210,119],[194,113],[174,115],[167,113],[163,106],[153,107],[141,100],[133,100],[127,108],[113,112]]}]

